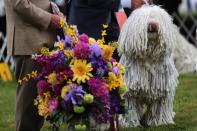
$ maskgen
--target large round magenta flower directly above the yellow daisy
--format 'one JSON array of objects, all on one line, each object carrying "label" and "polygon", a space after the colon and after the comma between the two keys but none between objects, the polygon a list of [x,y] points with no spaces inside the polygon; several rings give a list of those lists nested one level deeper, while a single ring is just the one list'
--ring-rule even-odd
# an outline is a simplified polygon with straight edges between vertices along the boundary
[{"label": "large round magenta flower directly above the yellow daisy", "polygon": [[79,43],[74,47],[74,55],[78,59],[87,59],[91,53],[90,45],[88,43]]}]

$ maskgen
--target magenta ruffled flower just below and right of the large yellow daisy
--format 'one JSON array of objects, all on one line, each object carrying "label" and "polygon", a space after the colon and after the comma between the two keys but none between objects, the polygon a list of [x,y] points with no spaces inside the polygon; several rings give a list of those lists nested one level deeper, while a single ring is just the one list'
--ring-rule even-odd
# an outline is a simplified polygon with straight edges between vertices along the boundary
[{"label": "magenta ruffled flower just below and right of the large yellow daisy", "polygon": [[96,97],[101,97],[109,93],[107,84],[100,79],[91,78],[88,81],[88,86],[89,86],[90,92]]}]

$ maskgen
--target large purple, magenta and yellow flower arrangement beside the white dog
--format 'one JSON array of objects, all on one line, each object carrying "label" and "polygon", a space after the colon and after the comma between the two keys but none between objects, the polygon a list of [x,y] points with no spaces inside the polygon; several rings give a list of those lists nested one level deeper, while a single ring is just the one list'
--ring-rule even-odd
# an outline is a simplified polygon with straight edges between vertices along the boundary
[{"label": "large purple, magenta and yellow flower arrangement beside the white dog", "polygon": [[42,48],[40,55],[33,55],[42,68],[30,75],[37,80],[39,115],[54,129],[77,120],[75,130],[83,131],[90,126],[90,117],[97,125],[109,124],[110,117],[123,112],[126,85],[124,67],[112,58],[115,47],[105,44],[107,26],[103,25],[102,38],[95,40],[79,35],[65,19],[61,25],[65,38],[58,37],[52,51]]}]

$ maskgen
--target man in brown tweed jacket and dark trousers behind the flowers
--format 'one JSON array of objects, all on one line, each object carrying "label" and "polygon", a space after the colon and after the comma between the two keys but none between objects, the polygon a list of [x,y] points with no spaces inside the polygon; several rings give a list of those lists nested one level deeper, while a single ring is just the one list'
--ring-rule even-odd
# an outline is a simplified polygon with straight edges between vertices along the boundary
[{"label": "man in brown tweed jacket and dark trousers behind the flowers", "polygon": [[[51,13],[49,0],[5,0],[7,18],[7,49],[15,61],[16,80],[32,70],[38,70],[31,55],[41,47],[52,47],[54,29],[59,28],[60,17]],[[16,130],[39,131],[43,118],[34,106],[36,85],[30,80],[17,85]]]}]

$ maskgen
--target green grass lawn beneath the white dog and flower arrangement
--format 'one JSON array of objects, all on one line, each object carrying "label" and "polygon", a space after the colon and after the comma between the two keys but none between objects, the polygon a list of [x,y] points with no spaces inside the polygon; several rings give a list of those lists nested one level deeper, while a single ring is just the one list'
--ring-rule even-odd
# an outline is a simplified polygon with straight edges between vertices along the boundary
[{"label": "green grass lawn beneath the white dog and flower arrangement", "polygon": [[[156,128],[131,128],[123,131],[197,131],[197,75],[179,78],[174,109],[175,125]],[[0,131],[14,131],[15,82],[0,81]],[[42,131],[48,131],[46,123]]]}]

